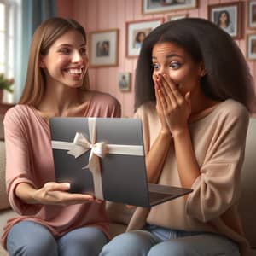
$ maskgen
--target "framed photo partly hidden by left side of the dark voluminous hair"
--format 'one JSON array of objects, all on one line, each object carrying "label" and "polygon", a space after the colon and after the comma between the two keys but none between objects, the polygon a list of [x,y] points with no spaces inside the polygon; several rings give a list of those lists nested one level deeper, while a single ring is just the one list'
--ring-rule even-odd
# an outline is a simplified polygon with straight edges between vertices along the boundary
[{"label": "framed photo partly hidden by left side of the dark voluminous hair", "polygon": [[126,56],[137,57],[144,38],[163,21],[163,19],[154,19],[126,22]]}]

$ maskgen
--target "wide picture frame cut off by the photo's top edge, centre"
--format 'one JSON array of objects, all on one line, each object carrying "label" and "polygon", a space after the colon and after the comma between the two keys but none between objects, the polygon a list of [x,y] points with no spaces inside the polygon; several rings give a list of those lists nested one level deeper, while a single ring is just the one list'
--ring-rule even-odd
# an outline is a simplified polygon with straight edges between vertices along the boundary
[{"label": "wide picture frame cut off by the photo's top edge, centre", "polygon": [[197,7],[198,0],[142,0],[143,14],[170,12],[177,9]]}]

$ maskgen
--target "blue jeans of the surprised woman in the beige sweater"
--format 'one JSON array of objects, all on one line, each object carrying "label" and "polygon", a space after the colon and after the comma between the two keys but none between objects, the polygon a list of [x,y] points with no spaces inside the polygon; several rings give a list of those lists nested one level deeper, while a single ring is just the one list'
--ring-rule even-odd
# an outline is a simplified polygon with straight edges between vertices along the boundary
[{"label": "blue jeans of the surprised woman in the beige sweater", "polygon": [[148,225],[116,236],[100,256],[239,256],[234,241],[207,232],[168,230]]}]

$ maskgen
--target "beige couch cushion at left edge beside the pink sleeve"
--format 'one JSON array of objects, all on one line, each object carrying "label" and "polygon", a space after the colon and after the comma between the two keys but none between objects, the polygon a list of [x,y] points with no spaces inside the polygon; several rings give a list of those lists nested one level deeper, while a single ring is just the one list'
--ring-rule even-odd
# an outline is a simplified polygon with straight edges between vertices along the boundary
[{"label": "beige couch cushion at left edge beside the pink sleeve", "polygon": [[9,201],[5,187],[5,148],[3,141],[0,141],[0,210],[9,208]]}]

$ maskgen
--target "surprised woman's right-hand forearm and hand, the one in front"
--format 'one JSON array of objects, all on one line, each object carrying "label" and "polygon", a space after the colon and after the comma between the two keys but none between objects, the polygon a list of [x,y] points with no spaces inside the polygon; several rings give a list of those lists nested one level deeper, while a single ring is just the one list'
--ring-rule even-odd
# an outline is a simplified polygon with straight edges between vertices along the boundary
[{"label": "surprised woman's right-hand forearm and hand, the one in front", "polygon": [[195,152],[189,134],[188,119],[191,113],[189,93],[182,96],[172,80],[164,75],[157,79],[160,84],[156,94],[174,140],[177,171],[183,187],[191,188],[200,175]]}]

